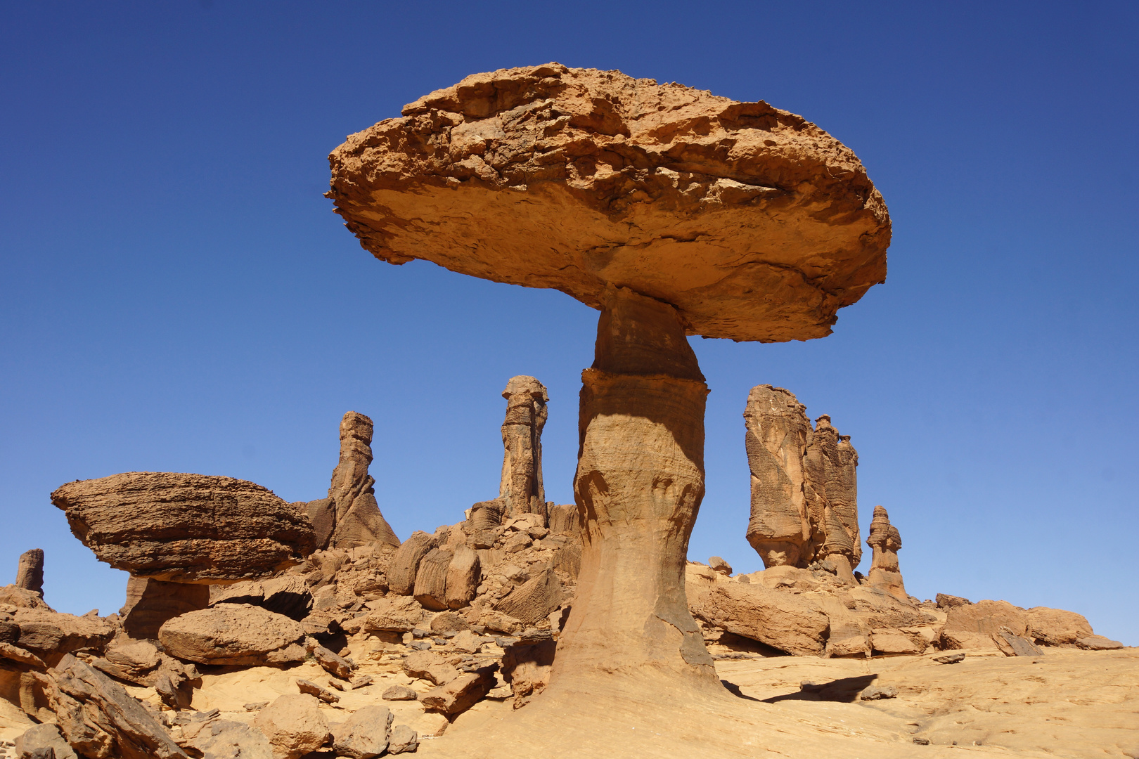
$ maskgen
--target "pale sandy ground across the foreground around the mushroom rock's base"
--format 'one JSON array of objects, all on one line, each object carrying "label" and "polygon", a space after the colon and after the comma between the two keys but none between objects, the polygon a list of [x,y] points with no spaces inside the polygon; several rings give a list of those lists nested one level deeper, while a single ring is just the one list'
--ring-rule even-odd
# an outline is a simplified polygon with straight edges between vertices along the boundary
[{"label": "pale sandy ground across the foreground around the mushroom rock's base", "polygon": [[[360,650],[355,660],[376,683],[339,693],[325,707],[330,723],[379,701],[384,688],[429,685],[402,674],[400,657]],[[449,724],[418,702],[384,702],[424,736],[425,757],[1139,757],[1139,649],[1051,649],[1035,658],[966,652],[940,665],[933,654],[872,660],[762,657],[723,659],[723,694],[654,690],[547,691],[521,710],[506,687]],[[327,685],[308,662],[288,670],[216,668],[203,677],[194,707],[249,721],[246,703],[295,693],[298,678]],[[803,682],[814,686],[803,687]],[[893,699],[863,701],[867,687],[893,686]],[[148,688],[128,688],[157,703]],[[0,739],[31,725],[0,701]],[[928,744],[916,743],[928,741]]]}]

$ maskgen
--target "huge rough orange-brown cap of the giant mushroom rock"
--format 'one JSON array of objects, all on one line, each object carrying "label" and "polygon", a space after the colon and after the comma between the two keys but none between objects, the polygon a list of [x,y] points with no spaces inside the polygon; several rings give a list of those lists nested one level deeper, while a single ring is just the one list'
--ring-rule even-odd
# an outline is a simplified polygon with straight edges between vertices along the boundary
[{"label": "huge rough orange-brown cap of the giant mushroom rock", "polygon": [[350,135],[329,197],[376,257],[677,306],[689,335],[823,337],[885,281],[890,216],[800,116],[559,64],[475,74]]}]

